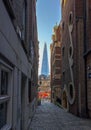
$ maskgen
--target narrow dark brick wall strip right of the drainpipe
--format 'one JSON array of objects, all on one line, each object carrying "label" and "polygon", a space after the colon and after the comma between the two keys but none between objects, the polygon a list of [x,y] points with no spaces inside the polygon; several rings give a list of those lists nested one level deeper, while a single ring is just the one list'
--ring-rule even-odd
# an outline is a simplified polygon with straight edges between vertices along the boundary
[{"label": "narrow dark brick wall strip right of the drainpipe", "polygon": [[86,1],[86,83],[87,83],[87,110],[91,117],[91,1]]}]

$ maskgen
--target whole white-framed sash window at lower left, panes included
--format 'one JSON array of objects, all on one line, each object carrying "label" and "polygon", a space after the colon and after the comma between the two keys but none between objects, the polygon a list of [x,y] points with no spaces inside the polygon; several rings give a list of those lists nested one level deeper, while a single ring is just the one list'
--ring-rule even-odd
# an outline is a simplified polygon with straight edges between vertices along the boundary
[{"label": "whole white-framed sash window at lower left, panes included", "polygon": [[[0,63],[0,129],[7,126],[10,128],[11,116],[11,73],[10,69]],[[12,78],[12,77],[11,77]],[[9,116],[8,116],[9,115]],[[9,123],[9,124],[8,124]]]}]

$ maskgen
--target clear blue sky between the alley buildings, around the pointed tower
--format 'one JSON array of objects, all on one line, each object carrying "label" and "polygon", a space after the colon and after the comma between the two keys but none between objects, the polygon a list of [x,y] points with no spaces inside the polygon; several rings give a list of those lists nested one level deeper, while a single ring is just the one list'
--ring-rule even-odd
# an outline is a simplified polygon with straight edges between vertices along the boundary
[{"label": "clear blue sky between the alley buildings, around the pointed tower", "polygon": [[44,43],[47,43],[48,62],[50,70],[50,44],[53,34],[53,27],[60,23],[61,4],[60,0],[37,0],[37,28],[39,40],[39,74],[41,74],[41,64]]}]

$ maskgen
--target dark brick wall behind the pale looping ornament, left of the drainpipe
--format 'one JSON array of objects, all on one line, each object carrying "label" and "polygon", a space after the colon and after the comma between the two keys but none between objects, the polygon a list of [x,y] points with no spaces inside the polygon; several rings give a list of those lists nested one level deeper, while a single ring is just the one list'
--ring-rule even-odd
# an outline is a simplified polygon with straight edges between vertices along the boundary
[{"label": "dark brick wall behind the pale looping ornament, left of the drainpipe", "polygon": [[[66,84],[68,92],[69,111],[75,115],[86,115],[86,93],[85,93],[85,64],[84,64],[84,22],[83,22],[83,0],[68,0],[62,8],[62,70],[65,73],[62,87]],[[71,18],[70,18],[71,16]],[[72,20],[72,21],[70,21]],[[69,26],[72,25],[72,32]],[[70,38],[71,35],[71,38]],[[70,46],[73,46],[73,65],[70,66]],[[62,49],[63,50],[63,49]],[[71,68],[70,68],[71,67]],[[63,73],[63,77],[64,77]],[[73,77],[73,78],[72,78]],[[73,103],[70,101],[70,86],[73,80]],[[64,89],[64,87],[63,87]]]}]

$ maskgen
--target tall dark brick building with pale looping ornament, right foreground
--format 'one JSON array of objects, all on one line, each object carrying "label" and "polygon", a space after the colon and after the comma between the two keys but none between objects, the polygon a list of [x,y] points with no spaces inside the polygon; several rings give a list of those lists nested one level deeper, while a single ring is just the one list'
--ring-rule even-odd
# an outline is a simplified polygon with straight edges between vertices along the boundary
[{"label": "tall dark brick building with pale looping ornament, right foreground", "polygon": [[91,117],[91,2],[62,0],[62,105]]}]

